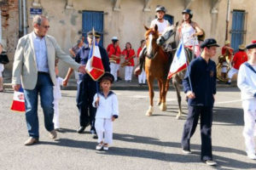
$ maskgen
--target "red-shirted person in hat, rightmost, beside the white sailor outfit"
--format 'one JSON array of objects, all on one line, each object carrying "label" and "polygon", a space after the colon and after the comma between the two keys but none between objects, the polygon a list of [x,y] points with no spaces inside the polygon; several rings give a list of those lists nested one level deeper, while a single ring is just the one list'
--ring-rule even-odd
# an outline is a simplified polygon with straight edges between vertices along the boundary
[{"label": "red-shirted person in hat, rightmost, beside the white sailor outfit", "polygon": [[236,54],[234,55],[234,58],[231,63],[232,68],[230,69],[230,71],[228,73],[229,82],[227,82],[227,84],[231,84],[231,79],[235,74],[238,73],[240,65],[248,60],[247,53],[245,52],[245,49],[246,49],[245,45],[241,44],[239,46],[239,51],[236,52]]}]

